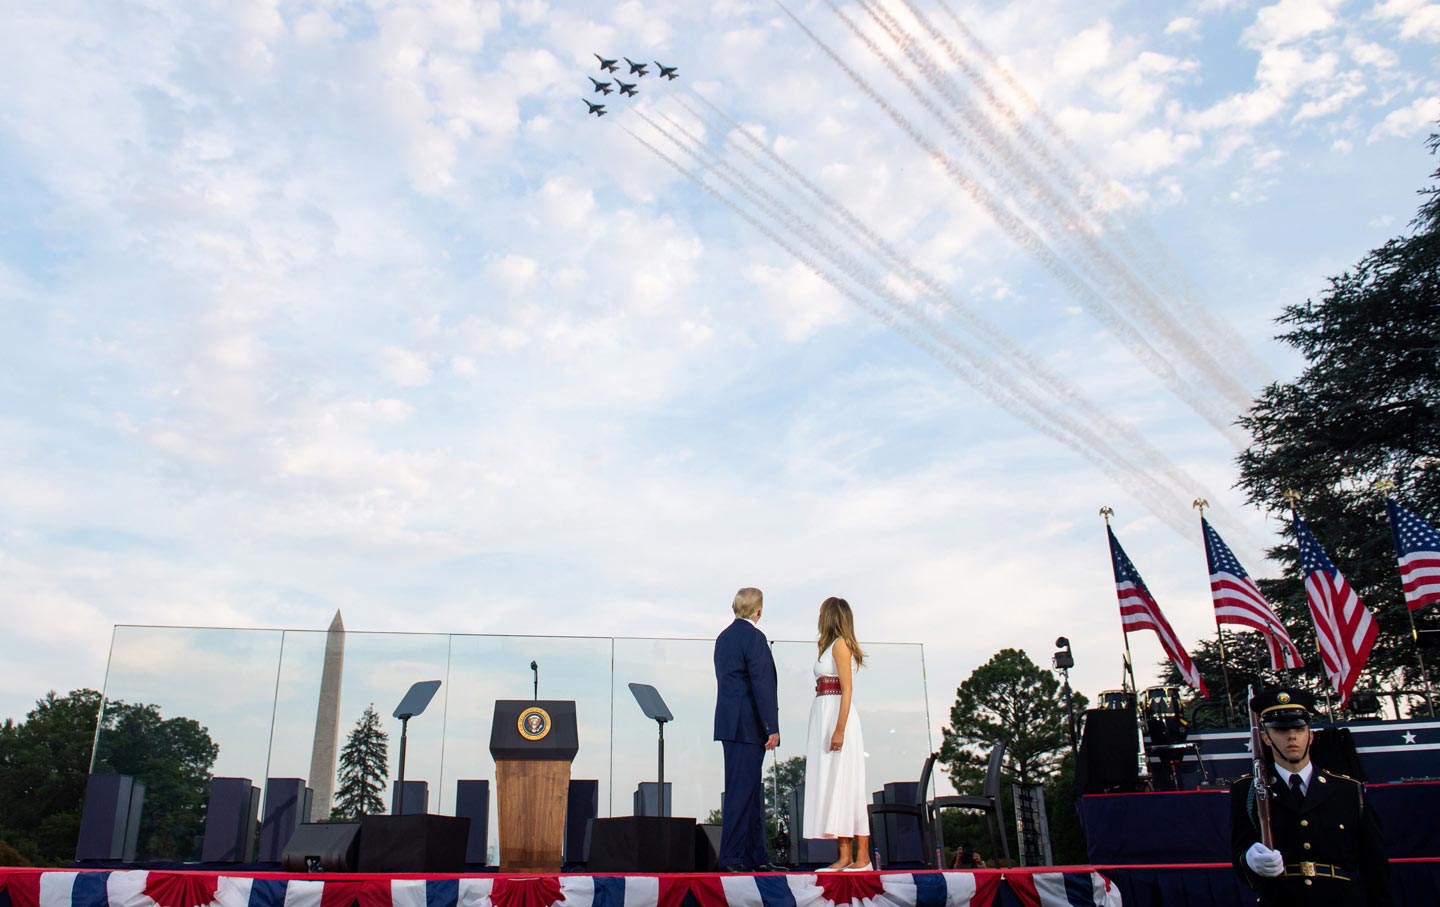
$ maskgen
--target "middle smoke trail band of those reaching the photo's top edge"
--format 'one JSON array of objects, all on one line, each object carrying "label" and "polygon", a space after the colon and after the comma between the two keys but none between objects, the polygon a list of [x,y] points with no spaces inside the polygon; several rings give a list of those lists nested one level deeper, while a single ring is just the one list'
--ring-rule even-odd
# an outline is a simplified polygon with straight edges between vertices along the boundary
[{"label": "middle smoke trail band of those reaching the photo's top edge", "polygon": [[[827,0],[829,7],[845,20],[851,30],[858,30],[835,6],[834,0]],[[886,32],[891,42],[900,48],[901,53],[922,72],[932,88],[945,99],[950,108],[959,114],[969,130],[962,130],[949,117],[942,118],[945,130],[958,141],[968,141],[971,135],[978,135],[984,148],[978,150],[979,163],[996,179],[1007,184],[1014,200],[1024,212],[1051,236],[1057,245],[1066,243],[1077,246],[1074,252],[1080,256],[1080,266],[1086,276],[1102,286],[1106,286],[1117,301],[1126,302],[1146,328],[1168,343],[1172,356],[1195,369],[1202,379],[1210,382],[1211,389],[1218,392],[1234,410],[1243,410],[1250,405],[1248,392],[1234,380],[1234,376],[1221,367],[1211,357],[1210,350],[1200,344],[1189,331],[1174,320],[1169,312],[1153,297],[1152,291],[1142,284],[1139,276],[1126,266],[1125,259],[1107,249],[1099,239],[1099,225],[1094,225],[1084,212],[1063,197],[1051,181],[1051,177],[1024,155],[1008,137],[1005,137],[991,118],[986,117],[965,96],[948,73],[945,73],[920,43],[904,30],[904,27],[887,10],[874,0],[860,0],[861,7],[870,19]],[[943,37],[943,36],[942,36]],[[867,40],[871,52],[881,53],[877,46]],[[913,82],[907,86],[917,91]],[[972,145],[973,147],[973,145]],[[1014,171],[1014,173],[1008,173]],[[1014,179],[1020,176],[1020,181]],[[1025,191],[1028,190],[1028,194]],[[1067,242],[1068,240],[1068,242]],[[1241,441],[1243,446],[1243,441]]]}]

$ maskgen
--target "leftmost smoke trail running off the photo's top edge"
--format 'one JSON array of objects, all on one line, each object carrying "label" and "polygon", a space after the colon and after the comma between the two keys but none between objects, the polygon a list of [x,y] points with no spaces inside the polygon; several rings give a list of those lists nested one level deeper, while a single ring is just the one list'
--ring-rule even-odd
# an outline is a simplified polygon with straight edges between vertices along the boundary
[{"label": "leftmost smoke trail running off the photo's top edge", "polygon": [[[1210,422],[1215,429],[1224,433],[1227,438],[1234,432],[1231,420],[1236,413],[1225,413],[1220,410],[1215,402],[1204,394],[1198,394],[1181,376],[1175,371],[1169,360],[1153,347],[1153,344],[1139,331],[1136,331],[1119,312],[1115,311],[1109,302],[1100,298],[1096,291],[1086,284],[1070,266],[1050,248],[1045,240],[1038,236],[1027,223],[1017,217],[1005,204],[994,196],[985,186],[978,180],[966,174],[956,161],[942,151],[933,141],[924,137],[920,130],[910,122],[907,117],[900,114],[888,101],[886,101],[880,94],[870,85],[870,82],[855,72],[828,43],[825,43],[818,35],[815,35],[799,17],[795,16],[785,4],[776,0],[776,6],[791,17],[792,22],[824,52],[831,60],[840,66],[845,75],[851,78],[852,82],[878,107],[890,119],[904,131],[922,150],[924,150],[930,158],[937,163],[945,173],[965,190],[965,193],[981,207],[984,207],[991,217],[1009,233],[1011,239],[1017,242],[1022,249],[1030,252],[1061,285],[1066,286],[1076,298],[1079,298],[1087,310],[1092,311],[1102,322],[1104,322],[1116,335],[1123,338],[1129,344],[1129,350],[1136,358],[1140,360],[1161,382],[1165,383],[1169,390],[1185,400],[1194,412],[1201,415],[1207,422]],[[854,27],[854,26],[851,26]],[[857,30],[858,35],[858,30]],[[863,40],[868,37],[860,35]],[[874,45],[874,42],[870,42]],[[883,56],[883,52],[881,52]],[[888,59],[888,58],[886,58]],[[893,66],[893,62],[891,62]],[[893,71],[901,81],[909,81],[904,73],[897,69]],[[933,115],[940,117],[939,108],[935,102],[926,98],[923,94],[917,94],[917,99],[923,107],[926,107]]]}]

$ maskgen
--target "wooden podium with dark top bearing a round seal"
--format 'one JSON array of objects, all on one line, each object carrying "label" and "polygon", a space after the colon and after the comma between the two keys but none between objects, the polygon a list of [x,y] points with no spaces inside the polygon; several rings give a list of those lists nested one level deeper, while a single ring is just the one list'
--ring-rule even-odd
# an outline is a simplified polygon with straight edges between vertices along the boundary
[{"label": "wooden podium with dark top bearing a round seal", "polygon": [[498,700],[490,728],[500,805],[500,871],[559,872],[570,760],[580,743],[575,703]]}]

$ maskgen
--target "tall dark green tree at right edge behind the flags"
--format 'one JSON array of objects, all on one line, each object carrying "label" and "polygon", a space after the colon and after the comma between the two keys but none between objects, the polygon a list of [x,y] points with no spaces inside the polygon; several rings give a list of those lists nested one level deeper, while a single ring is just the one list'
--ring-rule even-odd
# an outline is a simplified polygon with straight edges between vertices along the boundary
[{"label": "tall dark green tree at right edge behind the flags", "polygon": [[[1440,135],[1427,144],[1440,151]],[[1361,681],[1371,688],[1420,687],[1380,482],[1440,518],[1440,194],[1421,191],[1428,199],[1411,235],[1331,278],[1318,301],[1283,310],[1279,340],[1306,366],[1266,387],[1240,419],[1251,436],[1238,456],[1250,502],[1287,517],[1284,492],[1297,491],[1300,515],[1375,612],[1380,636]],[[1257,585],[1306,656],[1302,682],[1323,690],[1289,524],[1284,531],[1286,544],[1270,551],[1282,577]],[[1416,616],[1437,626],[1434,610]]]}]

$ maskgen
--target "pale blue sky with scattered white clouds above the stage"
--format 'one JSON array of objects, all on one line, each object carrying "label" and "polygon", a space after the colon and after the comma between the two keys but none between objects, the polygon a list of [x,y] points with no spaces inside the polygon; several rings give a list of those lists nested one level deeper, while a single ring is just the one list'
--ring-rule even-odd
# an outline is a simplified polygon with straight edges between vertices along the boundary
[{"label": "pale blue sky with scattered white clouds above the stage", "polygon": [[[1001,143],[1044,135],[1024,154],[1080,179],[986,170],[984,132],[948,132],[825,3],[22,3],[0,716],[99,685],[115,623],[710,636],[757,585],[772,638],[842,595],[863,638],[923,642],[939,724],[1001,646],[1045,664],[1066,633],[1081,690],[1117,682],[1106,504],[1181,638],[1212,633],[1191,500],[1253,574],[1274,538],[1217,420],[1297,369],[1280,308],[1405,229],[1440,4],[917,3],[942,42],[886,0],[914,59],[838,9],[932,104],[995,115],[946,53],[963,23],[1017,111]],[[586,117],[593,52],[681,78]],[[732,199],[713,161],[765,179],[773,153],[939,295],[850,245],[878,288],[857,304],[638,138]],[[770,191],[805,210],[799,186]],[[1110,271],[1077,292],[978,199],[1081,284]],[[920,346],[867,304],[917,312]],[[1030,409],[1021,360],[1057,382]]]}]

